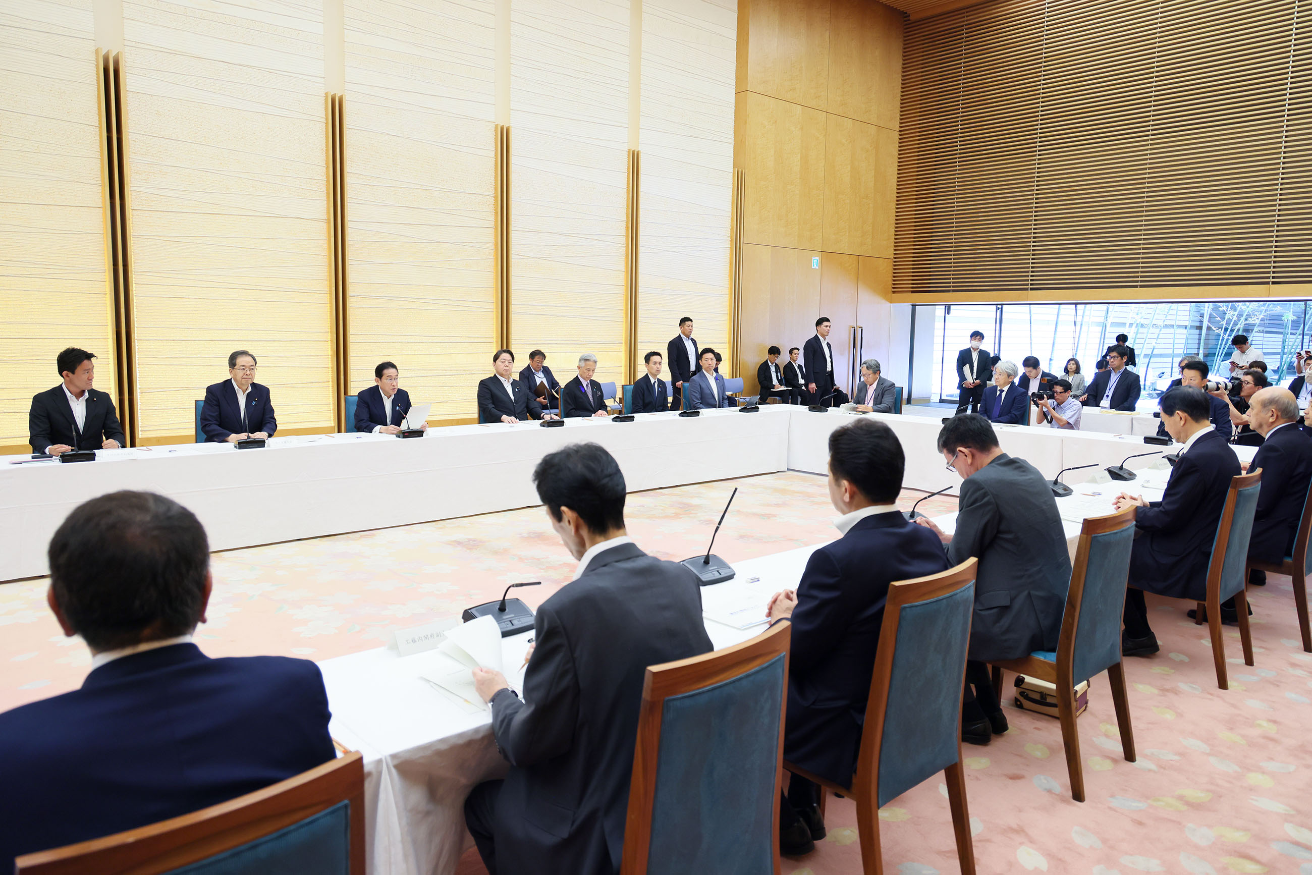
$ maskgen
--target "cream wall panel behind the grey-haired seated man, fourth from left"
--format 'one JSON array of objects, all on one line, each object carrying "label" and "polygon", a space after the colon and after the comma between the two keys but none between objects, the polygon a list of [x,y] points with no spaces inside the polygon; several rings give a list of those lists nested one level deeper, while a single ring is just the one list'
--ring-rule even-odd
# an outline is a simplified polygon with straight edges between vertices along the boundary
[{"label": "cream wall panel behind the grey-haired seated man, fourth from left", "polygon": [[510,312],[562,382],[580,353],[623,375],[627,0],[510,7]]}]

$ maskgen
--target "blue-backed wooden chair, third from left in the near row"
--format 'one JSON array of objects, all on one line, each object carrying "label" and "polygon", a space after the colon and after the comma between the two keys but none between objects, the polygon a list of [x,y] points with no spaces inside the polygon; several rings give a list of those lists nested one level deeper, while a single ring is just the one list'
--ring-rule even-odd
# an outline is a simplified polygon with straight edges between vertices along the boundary
[{"label": "blue-backed wooden chair, third from left in the near row", "polygon": [[783,767],[857,803],[865,872],[883,871],[879,809],[939,771],[963,875],[975,875],[962,769],[962,689],[975,606],[975,559],[938,575],[888,586],[870,678],[857,774],[848,786],[785,761]]}]

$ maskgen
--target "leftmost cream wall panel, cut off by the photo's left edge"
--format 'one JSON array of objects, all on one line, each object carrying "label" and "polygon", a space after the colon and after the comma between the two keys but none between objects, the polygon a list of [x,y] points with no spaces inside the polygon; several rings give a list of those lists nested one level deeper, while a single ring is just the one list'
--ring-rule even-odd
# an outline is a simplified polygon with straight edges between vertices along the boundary
[{"label": "leftmost cream wall panel, cut off by the photo's left edge", "polygon": [[91,0],[0,7],[0,449],[26,449],[31,396],[66,346],[114,386]]}]

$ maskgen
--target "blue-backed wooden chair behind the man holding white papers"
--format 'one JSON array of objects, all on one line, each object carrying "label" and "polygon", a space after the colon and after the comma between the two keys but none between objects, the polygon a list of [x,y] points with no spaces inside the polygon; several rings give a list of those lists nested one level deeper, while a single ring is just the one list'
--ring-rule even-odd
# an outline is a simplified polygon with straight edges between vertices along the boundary
[{"label": "blue-backed wooden chair behind the man holding white papers", "polygon": [[621,875],[779,871],[791,634],[647,669]]}]

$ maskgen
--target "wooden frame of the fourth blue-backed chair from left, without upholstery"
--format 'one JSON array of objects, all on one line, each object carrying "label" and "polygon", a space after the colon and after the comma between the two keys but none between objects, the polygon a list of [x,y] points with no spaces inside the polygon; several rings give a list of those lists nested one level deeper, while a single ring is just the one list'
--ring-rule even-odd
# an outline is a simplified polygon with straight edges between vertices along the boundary
[{"label": "wooden frame of the fourth blue-backed chair from left, without upholstery", "polygon": [[[1089,571],[1089,552],[1093,537],[1119,531],[1135,525],[1135,508],[1106,517],[1089,517],[1080,530],[1080,546],[1076,548],[1075,565],[1071,571],[1071,589],[1067,592],[1065,613],[1061,615],[1061,636],[1057,639],[1056,662],[1026,656],[1018,660],[993,662],[993,689],[1001,698],[1002,669],[1026,677],[1047,681],[1056,686],[1057,719],[1061,722],[1061,744],[1067,754],[1067,774],[1071,775],[1071,798],[1084,802],[1084,770],[1080,765],[1080,728],[1075,712],[1075,636],[1080,628],[1080,610],[1084,607],[1084,582]],[[1126,569],[1128,576],[1128,568]],[[1120,588],[1120,606],[1124,609],[1124,586]],[[1118,636],[1119,638],[1119,636]],[[1118,645],[1119,647],[1119,645]],[[1130,698],[1126,691],[1124,665],[1118,660],[1107,666],[1107,681],[1111,686],[1111,702],[1117,708],[1117,727],[1120,729],[1120,748],[1126,761],[1135,761],[1135,733],[1130,724]]]}]

